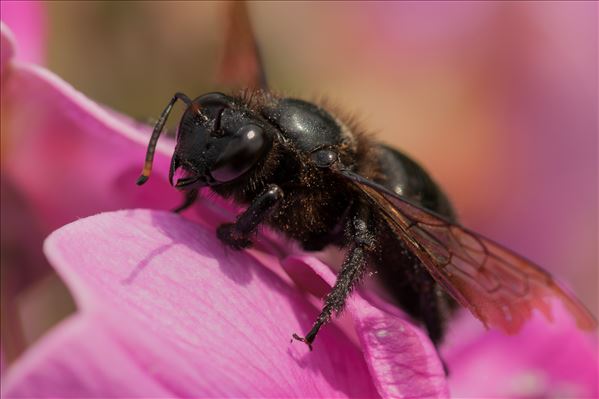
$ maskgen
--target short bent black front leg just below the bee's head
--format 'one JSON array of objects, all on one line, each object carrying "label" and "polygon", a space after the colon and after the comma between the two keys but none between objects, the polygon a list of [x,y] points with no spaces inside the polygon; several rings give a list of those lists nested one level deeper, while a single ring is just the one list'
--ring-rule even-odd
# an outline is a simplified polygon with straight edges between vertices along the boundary
[{"label": "short bent black front leg just below the bee's head", "polygon": [[283,199],[283,190],[276,184],[254,198],[250,206],[237,217],[235,223],[221,224],[216,230],[217,237],[233,249],[249,247],[249,239],[256,227],[262,223]]}]

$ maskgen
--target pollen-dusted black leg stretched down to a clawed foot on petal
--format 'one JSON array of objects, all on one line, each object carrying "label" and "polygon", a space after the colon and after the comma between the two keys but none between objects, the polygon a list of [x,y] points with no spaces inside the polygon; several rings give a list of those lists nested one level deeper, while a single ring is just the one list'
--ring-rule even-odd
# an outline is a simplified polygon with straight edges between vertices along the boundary
[{"label": "pollen-dusted black leg stretched down to a clawed foot on petal", "polygon": [[348,224],[347,234],[351,239],[351,244],[343,260],[341,271],[337,275],[337,281],[335,281],[331,292],[326,296],[324,307],[314,326],[305,337],[293,334],[294,339],[307,344],[310,350],[312,350],[312,342],[314,342],[320,327],[331,320],[333,312],[339,314],[343,310],[347,297],[364,274],[367,260],[374,252],[374,234],[369,229],[365,219],[356,216]]}]

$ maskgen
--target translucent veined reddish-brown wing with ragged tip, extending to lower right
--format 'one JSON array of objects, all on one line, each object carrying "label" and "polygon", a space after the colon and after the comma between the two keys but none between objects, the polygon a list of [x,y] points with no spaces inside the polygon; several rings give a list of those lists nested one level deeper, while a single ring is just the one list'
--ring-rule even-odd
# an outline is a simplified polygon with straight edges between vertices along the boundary
[{"label": "translucent veined reddish-brown wing with ragged tip, extending to lower right", "polygon": [[532,262],[371,180],[340,173],[382,213],[433,278],[485,326],[514,334],[533,309],[551,320],[551,297],[565,305],[579,328],[597,326],[584,305]]}]

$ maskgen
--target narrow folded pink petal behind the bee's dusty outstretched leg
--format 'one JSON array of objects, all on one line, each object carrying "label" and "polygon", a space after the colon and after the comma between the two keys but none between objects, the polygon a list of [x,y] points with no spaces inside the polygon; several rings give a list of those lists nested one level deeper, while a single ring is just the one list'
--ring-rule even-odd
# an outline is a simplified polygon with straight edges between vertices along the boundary
[{"label": "narrow folded pink petal behind the bee's dusty outstretched leg", "polygon": [[[308,279],[302,266],[309,266],[312,279],[335,282],[329,267],[312,256],[292,256],[285,260],[285,270],[295,280]],[[298,275],[298,269],[301,275]],[[396,308],[366,300],[354,292],[347,311],[354,320],[355,331],[368,363],[374,383],[382,397],[446,398],[449,397],[445,372],[435,347],[426,334],[409,322]],[[314,314],[314,318],[317,314]],[[318,337],[320,340],[320,335]],[[322,345],[315,343],[315,348]]]}]

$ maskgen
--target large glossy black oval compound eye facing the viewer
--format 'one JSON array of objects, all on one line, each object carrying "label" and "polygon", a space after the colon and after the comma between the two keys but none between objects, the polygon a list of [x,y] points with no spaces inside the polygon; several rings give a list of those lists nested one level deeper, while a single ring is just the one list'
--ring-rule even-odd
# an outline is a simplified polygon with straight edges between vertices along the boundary
[{"label": "large glossy black oval compound eye facing the viewer", "polygon": [[260,158],[266,140],[264,131],[258,125],[245,125],[230,137],[223,151],[216,159],[211,171],[212,177],[225,183],[234,180],[247,172]]}]

